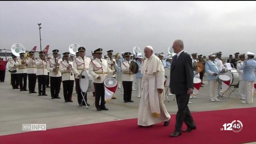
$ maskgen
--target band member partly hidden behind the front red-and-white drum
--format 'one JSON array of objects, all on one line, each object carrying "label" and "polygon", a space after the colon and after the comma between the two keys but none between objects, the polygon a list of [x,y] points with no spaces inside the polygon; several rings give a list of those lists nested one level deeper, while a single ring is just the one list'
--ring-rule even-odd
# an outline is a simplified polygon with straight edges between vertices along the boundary
[{"label": "band member partly hidden behind the front red-and-white drum", "polygon": [[[109,78],[116,78],[116,74],[112,74],[113,72],[116,72],[116,68],[117,68],[117,64],[116,64],[116,60],[114,58],[112,58],[113,56],[113,50],[108,50],[108,58],[106,58],[107,62],[108,62],[108,67],[110,68],[111,72],[108,73],[108,77]],[[112,97],[112,99],[116,99],[114,96]]]}]

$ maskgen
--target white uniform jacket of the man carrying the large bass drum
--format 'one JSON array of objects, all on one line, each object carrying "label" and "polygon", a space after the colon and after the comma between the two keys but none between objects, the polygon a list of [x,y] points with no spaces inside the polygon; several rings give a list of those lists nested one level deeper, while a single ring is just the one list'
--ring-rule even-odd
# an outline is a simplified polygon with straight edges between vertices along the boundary
[{"label": "white uniform jacket of the man carrying the large bass drum", "polygon": [[84,57],[84,60],[80,56],[74,58],[72,70],[74,74],[76,74],[75,78],[79,79],[78,75],[81,74],[82,70],[89,70],[90,62],[91,59],[86,56]]}]

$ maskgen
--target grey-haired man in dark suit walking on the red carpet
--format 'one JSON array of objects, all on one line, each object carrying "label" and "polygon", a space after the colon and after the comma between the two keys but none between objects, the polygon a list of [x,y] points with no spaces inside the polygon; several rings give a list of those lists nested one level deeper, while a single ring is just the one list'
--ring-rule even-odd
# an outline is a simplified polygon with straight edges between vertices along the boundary
[{"label": "grey-haired man in dark suit walking on the red carpet", "polygon": [[194,120],[188,108],[189,97],[194,88],[194,73],[190,55],[184,52],[183,41],[175,40],[172,48],[176,55],[174,56],[170,70],[170,90],[172,94],[176,95],[178,112],[176,114],[175,130],[170,136],[176,137],[181,135],[183,122],[185,122],[188,127],[186,130],[183,130],[183,132],[191,132],[191,130],[196,129],[196,125],[194,124]]}]

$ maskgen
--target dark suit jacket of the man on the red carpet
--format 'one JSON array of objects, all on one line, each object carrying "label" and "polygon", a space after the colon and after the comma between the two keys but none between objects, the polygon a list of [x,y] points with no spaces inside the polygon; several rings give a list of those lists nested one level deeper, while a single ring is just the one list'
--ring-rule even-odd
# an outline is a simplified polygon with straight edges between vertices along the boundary
[{"label": "dark suit jacket of the man on the red carpet", "polygon": [[194,72],[189,54],[182,52],[178,59],[173,59],[170,70],[170,88],[172,94],[186,94],[188,89],[194,89]]}]

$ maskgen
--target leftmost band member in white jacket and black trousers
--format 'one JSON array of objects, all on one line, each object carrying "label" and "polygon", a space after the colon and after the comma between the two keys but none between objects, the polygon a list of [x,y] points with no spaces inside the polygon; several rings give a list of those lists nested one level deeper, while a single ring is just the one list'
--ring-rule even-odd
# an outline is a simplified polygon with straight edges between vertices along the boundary
[{"label": "leftmost band member in white jacket and black trousers", "polygon": [[17,57],[12,55],[12,59],[6,64],[6,67],[11,74],[12,89],[19,89],[19,78],[17,73],[18,67],[14,66],[16,61],[18,61]]}]

